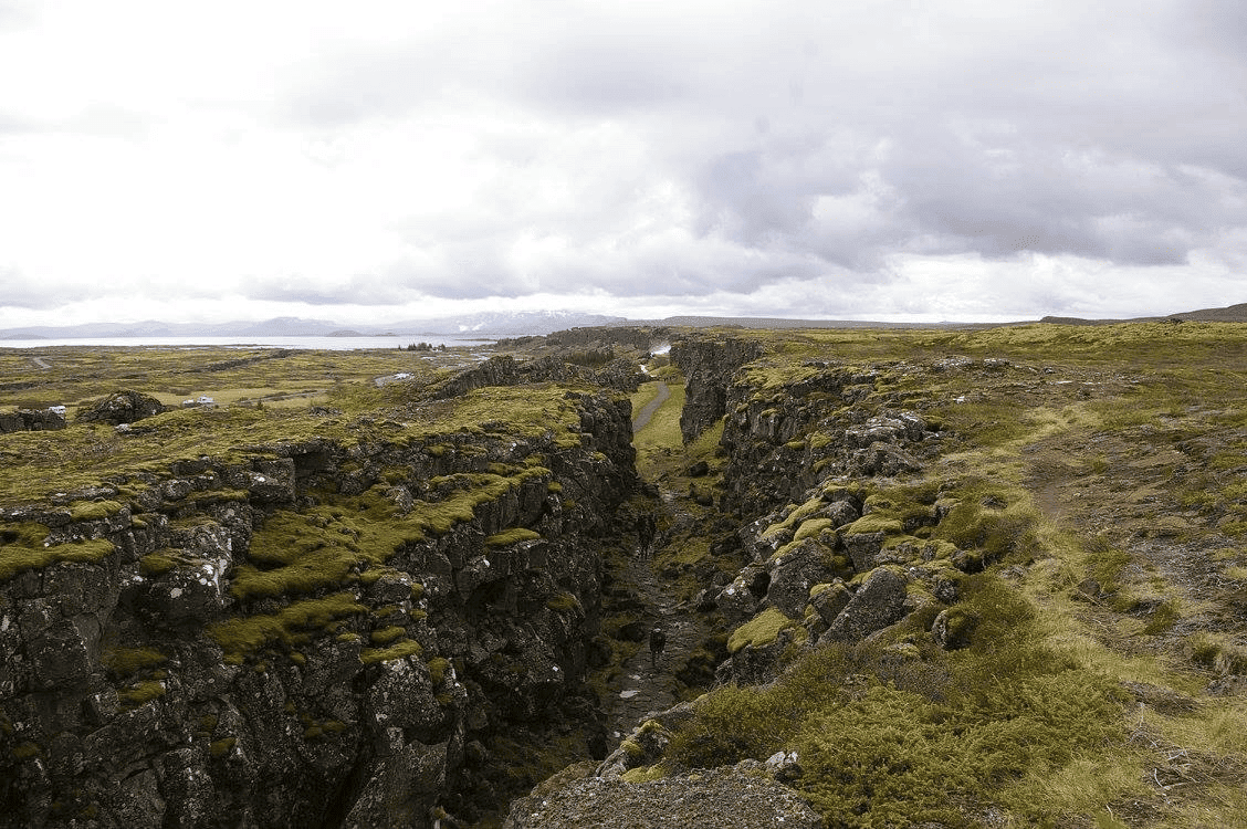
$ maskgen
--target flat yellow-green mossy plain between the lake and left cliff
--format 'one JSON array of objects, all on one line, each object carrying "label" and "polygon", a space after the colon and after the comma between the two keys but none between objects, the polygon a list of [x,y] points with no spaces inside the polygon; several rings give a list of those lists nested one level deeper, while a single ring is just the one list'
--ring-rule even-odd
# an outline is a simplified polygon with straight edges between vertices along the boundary
[{"label": "flat yellow-green mossy plain between the lake and left cliff", "polygon": [[[565,386],[480,389],[438,403],[415,403],[420,380],[436,375],[435,364],[408,352],[276,352],[170,349],[54,349],[45,359],[59,367],[35,374],[29,359],[7,362],[2,380],[37,385],[4,399],[5,405],[67,404],[70,425],[60,431],[14,433],[0,441],[0,506],[36,501],[54,492],[96,486],[141,474],[167,474],[170,464],[209,455],[219,461],[269,456],[266,448],[311,438],[343,445],[360,441],[421,441],[459,430],[516,436],[551,434],[562,445],[579,438],[576,410]],[[441,353],[439,353],[441,354]],[[2,357],[2,355],[0,355]],[[460,355],[461,357],[461,355]],[[443,359],[455,359],[455,355]],[[2,363],[0,363],[2,364]],[[409,373],[414,380],[378,388],[374,378]],[[76,409],[118,388],[161,396],[183,395],[190,381],[197,394],[218,398],[217,408],[177,409],[132,424],[118,433],[104,424],[74,420]],[[263,383],[320,383],[315,395],[289,398],[286,406],[257,408],[231,389],[254,390]],[[269,388],[269,386],[263,386]],[[192,391],[185,391],[190,395]],[[319,408],[318,408],[319,406]],[[430,441],[431,444],[431,441]],[[82,509],[100,510],[100,506]]]}]

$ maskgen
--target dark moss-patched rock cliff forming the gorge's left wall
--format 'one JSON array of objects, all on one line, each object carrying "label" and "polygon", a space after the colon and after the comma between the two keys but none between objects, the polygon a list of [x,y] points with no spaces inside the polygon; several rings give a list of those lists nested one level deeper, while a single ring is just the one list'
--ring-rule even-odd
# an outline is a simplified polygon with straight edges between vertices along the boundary
[{"label": "dark moss-patched rock cliff forming the gorge's left wall", "polygon": [[[585,717],[626,400],[313,438],[0,514],[0,827],[433,825]],[[375,439],[365,434],[378,434]]]}]

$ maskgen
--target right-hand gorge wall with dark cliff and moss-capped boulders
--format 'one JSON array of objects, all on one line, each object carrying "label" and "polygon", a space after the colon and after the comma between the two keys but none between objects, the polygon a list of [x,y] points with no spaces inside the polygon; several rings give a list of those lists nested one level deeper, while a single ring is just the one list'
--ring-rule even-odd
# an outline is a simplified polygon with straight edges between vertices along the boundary
[{"label": "right-hand gorge wall with dark cliff and moss-capped boulders", "polygon": [[700,378],[682,423],[708,426],[706,401],[722,398],[721,507],[742,521],[746,566],[702,600],[737,628],[718,677],[764,683],[794,646],[859,642],[915,613],[929,628],[981,560],[933,540],[955,501],[888,495],[943,444],[922,414],[890,405],[892,367],[749,354],[732,342],[672,349]]}]

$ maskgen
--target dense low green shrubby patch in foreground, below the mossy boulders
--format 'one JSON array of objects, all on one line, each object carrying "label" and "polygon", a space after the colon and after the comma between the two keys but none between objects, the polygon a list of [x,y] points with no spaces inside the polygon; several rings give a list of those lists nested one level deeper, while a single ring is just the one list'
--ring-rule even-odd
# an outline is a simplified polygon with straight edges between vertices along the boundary
[{"label": "dense low green shrubby patch in foreground, below the mossy boulders", "polygon": [[1047,651],[1034,608],[999,580],[969,577],[964,593],[984,633],[965,651],[809,651],[769,686],[698,699],[667,757],[698,768],[796,749],[793,785],[828,825],[968,825],[988,804],[1060,823],[1044,798],[1009,787],[1120,762],[1120,692]]}]

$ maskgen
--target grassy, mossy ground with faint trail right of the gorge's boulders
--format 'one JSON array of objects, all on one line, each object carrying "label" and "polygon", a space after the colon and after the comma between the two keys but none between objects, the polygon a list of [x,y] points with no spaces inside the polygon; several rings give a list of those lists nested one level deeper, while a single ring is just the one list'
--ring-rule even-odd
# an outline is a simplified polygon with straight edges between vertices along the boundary
[{"label": "grassy, mossy ground with faint trail right of the gorge's boulders", "polygon": [[[971,551],[958,607],[978,633],[943,652],[912,632],[899,662],[817,649],[772,687],[716,691],[676,765],[797,748],[829,825],[1243,825],[1242,327],[748,335],[767,394],[806,360],[870,368],[868,404],[943,431],[853,530]],[[801,506],[771,529],[807,534]]]}]

